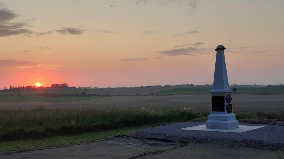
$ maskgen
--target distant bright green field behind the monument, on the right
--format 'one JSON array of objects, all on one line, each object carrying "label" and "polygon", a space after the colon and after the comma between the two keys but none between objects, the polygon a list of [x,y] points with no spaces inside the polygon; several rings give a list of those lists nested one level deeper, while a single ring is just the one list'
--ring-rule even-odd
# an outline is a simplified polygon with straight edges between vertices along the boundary
[{"label": "distant bright green field behind the monument, on the right", "polygon": [[[209,94],[210,90],[212,88],[174,88],[172,90],[155,92],[154,95],[203,95]],[[284,87],[237,88],[236,94],[284,94]]]}]

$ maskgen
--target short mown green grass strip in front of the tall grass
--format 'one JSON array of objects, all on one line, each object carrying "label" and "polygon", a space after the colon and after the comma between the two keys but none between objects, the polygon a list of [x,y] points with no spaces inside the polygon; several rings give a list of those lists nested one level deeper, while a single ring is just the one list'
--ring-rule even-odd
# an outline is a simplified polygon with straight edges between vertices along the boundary
[{"label": "short mown green grass strip in front of the tall grass", "polygon": [[42,148],[50,148],[57,146],[88,143],[106,138],[111,138],[117,135],[130,134],[137,129],[147,128],[147,127],[151,126],[123,127],[115,130],[83,133],[83,134],[70,135],[70,136],[66,135],[66,136],[57,136],[52,138],[0,142],[0,152],[5,153],[11,151],[33,150],[33,149],[42,149]]}]

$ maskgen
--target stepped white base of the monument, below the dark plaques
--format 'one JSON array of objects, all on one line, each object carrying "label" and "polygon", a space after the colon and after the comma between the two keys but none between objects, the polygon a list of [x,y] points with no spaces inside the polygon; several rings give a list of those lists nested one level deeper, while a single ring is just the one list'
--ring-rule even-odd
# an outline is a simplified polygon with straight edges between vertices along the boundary
[{"label": "stepped white base of the monument, below the dark plaques", "polygon": [[205,125],[206,129],[234,129],[239,127],[239,122],[234,113],[209,114]]}]

